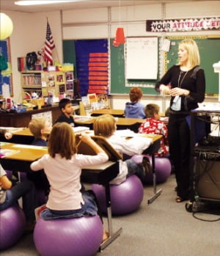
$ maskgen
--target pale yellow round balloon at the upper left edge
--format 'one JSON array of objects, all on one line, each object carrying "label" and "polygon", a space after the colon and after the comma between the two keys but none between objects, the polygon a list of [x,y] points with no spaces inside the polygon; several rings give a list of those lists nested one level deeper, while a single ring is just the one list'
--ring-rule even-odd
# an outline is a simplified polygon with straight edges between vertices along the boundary
[{"label": "pale yellow round balloon at the upper left edge", "polygon": [[13,23],[9,16],[0,13],[0,40],[4,40],[7,37],[10,37],[13,30]]}]

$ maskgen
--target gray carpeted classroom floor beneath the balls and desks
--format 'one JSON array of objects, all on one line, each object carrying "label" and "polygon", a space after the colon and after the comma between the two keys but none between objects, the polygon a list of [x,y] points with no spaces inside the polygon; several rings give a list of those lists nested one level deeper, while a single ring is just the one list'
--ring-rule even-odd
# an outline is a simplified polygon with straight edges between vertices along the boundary
[{"label": "gray carpeted classroom floor beneath the balls and desks", "polygon": [[[113,217],[113,228],[122,227],[122,234],[103,252],[95,256],[216,256],[220,255],[220,221],[204,222],[195,219],[185,209],[185,202],[175,202],[174,175],[161,185],[163,189],[152,204],[147,200],[153,195],[153,187],[144,188],[144,200],[138,211],[128,216]],[[197,213],[205,220],[219,219],[212,213]],[[106,224],[106,218],[104,218]],[[0,252],[1,256],[34,256],[32,235],[21,238],[15,246]],[[65,256],[65,255],[60,255]],[[73,256],[78,256],[74,255]]]}]

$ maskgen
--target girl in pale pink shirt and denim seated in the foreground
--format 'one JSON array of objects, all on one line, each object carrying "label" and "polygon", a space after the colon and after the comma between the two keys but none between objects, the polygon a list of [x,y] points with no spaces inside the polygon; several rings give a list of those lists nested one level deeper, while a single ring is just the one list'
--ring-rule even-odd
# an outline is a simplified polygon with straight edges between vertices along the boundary
[{"label": "girl in pale pink shirt and denim seated in the foreground", "polygon": [[31,164],[33,171],[44,169],[51,184],[47,208],[41,213],[43,219],[94,216],[98,212],[94,195],[88,191],[81,193],[81,168],[102,164],[108,156],[87,134],[82,133],[80,138],[92,147],[96,156],[76,153],[73,129],[65,122],[56,123],[48,139],[48,154]]}]

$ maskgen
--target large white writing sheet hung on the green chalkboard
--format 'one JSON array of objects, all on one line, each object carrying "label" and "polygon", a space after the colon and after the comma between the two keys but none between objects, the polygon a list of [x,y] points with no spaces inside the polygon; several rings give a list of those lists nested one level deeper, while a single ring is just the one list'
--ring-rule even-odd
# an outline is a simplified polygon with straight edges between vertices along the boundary
[{"label": "large white writing sheet hung on the green chalkboard", "polygon": [[126,78],[157,79],[158,37],[127,37]]}]

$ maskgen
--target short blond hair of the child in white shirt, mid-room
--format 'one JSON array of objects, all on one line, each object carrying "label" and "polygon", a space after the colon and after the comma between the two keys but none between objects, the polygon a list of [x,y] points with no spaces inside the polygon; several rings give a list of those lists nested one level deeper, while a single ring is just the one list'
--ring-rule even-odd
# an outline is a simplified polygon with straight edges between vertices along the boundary
[{"label": "short blond hair of the child in white shirt, mid-room", "polygon": [[94,134],[103,137],[109,137],[116,130],[116,121],[111,114],[102,114],[97,117],[93,123]]}]

